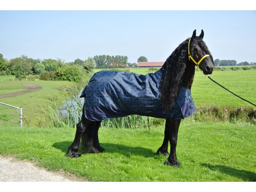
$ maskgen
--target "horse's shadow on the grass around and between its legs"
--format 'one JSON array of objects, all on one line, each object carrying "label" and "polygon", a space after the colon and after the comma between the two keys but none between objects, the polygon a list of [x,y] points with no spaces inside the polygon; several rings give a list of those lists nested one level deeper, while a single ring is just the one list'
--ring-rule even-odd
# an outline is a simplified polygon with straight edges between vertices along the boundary
[{"label": "horse's shadow on the grass around and between its legs", "polygon": [[[67,153],[67,149],[72,144],[72,142],[63,141],[63,142],[57,142],[53,143],[52,147],[57,148],[61,151],[63,151],[65,154]],[[115,143],[101,143],[100,146],[102,146],[105,149],[106,153],[120,153],[125,156],[130,155],[140,155],[143,157],[153,157],[157,158],[156,151],[152,151],[148,148],[143,147],[131,147],[127,145],[120,145]]]}]

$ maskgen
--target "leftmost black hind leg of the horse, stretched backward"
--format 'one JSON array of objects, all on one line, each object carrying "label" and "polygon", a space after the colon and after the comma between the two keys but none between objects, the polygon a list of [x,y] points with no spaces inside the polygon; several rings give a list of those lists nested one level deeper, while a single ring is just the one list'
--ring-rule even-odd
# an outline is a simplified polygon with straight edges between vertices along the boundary
[{"label": "leftmost black hind leg of the horse, stretched backward", "polygon": [[[84,110],[83,110],[84,111]],[[81,121],[76,125],[76,136],[74,142],[70,145],[67,150],[68,157],[80,157],[81,153],[78,152],[80,140],[84,131],[88,128],[88,126],[92,124],[92,121],[86,119],[84,117],[84,113],[82,114]]]}]

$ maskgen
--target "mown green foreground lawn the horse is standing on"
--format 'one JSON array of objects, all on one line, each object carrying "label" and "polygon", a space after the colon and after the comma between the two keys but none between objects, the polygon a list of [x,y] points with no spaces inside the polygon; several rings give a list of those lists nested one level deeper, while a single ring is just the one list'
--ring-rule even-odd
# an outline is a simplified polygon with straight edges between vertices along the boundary
[{"label": "mown green foreground lawn the horse is standing on", "polygon": [[0,127],[0,154],[28,159],[90,181],[256,181],[256,129],[221,123],[182,124],[179,168],[156,155],[163,126],[99,131],[105,152],[66,157],[75,129]]}]

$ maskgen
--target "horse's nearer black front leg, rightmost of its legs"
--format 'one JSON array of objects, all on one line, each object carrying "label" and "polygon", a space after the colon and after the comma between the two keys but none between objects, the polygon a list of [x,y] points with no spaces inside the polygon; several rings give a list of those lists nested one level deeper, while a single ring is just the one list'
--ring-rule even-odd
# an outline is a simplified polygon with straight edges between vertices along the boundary
[{"label": "horse's nearer black front leg, rightmost of its legs", "polygon": [[171,149],[170,149],[170,155],[164,164],[177,167],[177,166],[180,166],[180,162],[177,160],[177,157],[176,157],[176,146],[177,146],[179,126],[180,126],[180,119],[178,120],[166,119],[166,124],[168,126],[169,141],[170,141]]}]

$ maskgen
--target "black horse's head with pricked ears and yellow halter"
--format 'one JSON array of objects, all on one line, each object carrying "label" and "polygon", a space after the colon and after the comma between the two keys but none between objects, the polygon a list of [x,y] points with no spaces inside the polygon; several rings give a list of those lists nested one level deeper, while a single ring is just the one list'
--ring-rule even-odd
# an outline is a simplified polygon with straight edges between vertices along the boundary
[{"label": "black horse's head with pricked ears and yellow halter", "polygon": [[205,75],[212,74],[214,62],[209,49],[203,41],[204,31],[196,36],[196,30],[193,32],[192,37],[188,43],[189,64],[198,66]]}]

